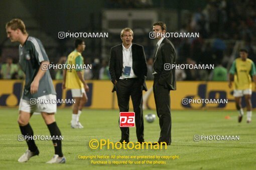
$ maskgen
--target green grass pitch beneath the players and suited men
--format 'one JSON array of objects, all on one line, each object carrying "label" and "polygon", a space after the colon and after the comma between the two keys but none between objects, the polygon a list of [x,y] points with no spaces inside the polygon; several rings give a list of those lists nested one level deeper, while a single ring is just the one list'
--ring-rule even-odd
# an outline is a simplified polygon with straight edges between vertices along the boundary
[{"label": "green grass pitch beneath the players and suited men", "polygon": [[[145,110],[147,113],[155,113]],[[229,115],[230,119],[225,119]],[[36,140],[39,156],[19,163],[25,152],[25,141],[18,141],[20,129],[17,123],[17,108],[0,109],[0,169],[255,169],[256,168],[256,118],[246,123],[246,117],[237,123],[236,111],[184,110],[172,111],[172,144],[167,149],[91,149],[89,140],[110,139],[118,141],[118,110],[84,109],[80,122],[83,129],[70,127],[71,109],[58,109],[57,124],[64,135],[62,141],[65,164],[46,164],[54,154],[52,141]],[[255,120],[255,121],[254,121]],[[31,126],[35,135],[49,135],[41,115],[33,115]],[[145,121],[145,140],[156,141],[159,137],[159,119]],[[200,135],[239,135],[239,140],[193,141]],[[130,141],[136,141],[135,127],[130,129]],[[166,164],[91,164],[78,155],[179,155],[179,158],[164,160]],[[99,159],[97,159],[99,160]],[[105,159],[101,159],[105,160]],[[126,160],[126,159],[121,159]],[[147,160],[147,159],[141,159]],[[163,159],[162,159],[163,160]],[[153,160],[154,161],[154,160]]]}]

